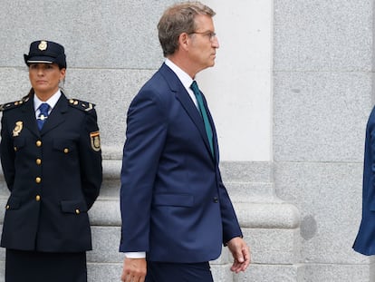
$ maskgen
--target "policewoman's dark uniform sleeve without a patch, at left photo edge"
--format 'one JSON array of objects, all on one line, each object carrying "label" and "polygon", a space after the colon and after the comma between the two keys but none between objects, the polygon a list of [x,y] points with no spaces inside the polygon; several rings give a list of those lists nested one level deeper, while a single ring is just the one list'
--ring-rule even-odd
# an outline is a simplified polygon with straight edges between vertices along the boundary
[{"label": "policewoman's dark uniform sleeve without a patch, at left photo edge", "polygon": [[8,126],[6,123],[5,112],[1,119],[1,142],[0,142],[0,157],[3,168],[3,174],[8,189],[13,190],[14,184],[14,146],[13,140],[10,136]]}]

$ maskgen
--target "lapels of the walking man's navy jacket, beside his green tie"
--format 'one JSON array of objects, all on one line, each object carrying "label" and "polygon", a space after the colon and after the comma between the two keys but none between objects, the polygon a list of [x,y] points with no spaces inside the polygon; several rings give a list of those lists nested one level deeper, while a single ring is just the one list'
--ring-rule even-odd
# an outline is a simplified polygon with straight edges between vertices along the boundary
[{"label": "lapels of the walking man's navy jacket, beside his green tie", "polygon": [[[212,158],[211,149],[210,149],[210,146],[209,146],[207,133],[206,133],[206,129],[205,129],[205,124],[203,122],[202,116],[201,116],[200,112],[198,112],[196,105],[191,100],[190,96],[188,95],[188,92],[185,89],[184,85],[179,81],[176,73],[173,73],[173,71],[165,63],[163,63],[163,65],[159,69],[159,72],[166,78],[171,91],[175,92],[176,98],[178,99],[178,101],[181,103],[182,107],[187,112],[187,115],[190,117],[190,119],[197,126],[197,130],[199,131],[200,136],[202,137],[203,141],[205,142],[206,149],[207,149],[209,155]],[[206,102],[206,100],[205,100],[205,102]],[[209,120],[211,122],[211,127],[214,131],[214,136],[216,136],[215,127],[213,126],[211,114],[209,113],[209,111],[208,111],[208,115],[209,115]],[[216,142],[215,138],[214,138],[214,142]],[[216,148],[216,145],[214,145],[214,147]]]}]

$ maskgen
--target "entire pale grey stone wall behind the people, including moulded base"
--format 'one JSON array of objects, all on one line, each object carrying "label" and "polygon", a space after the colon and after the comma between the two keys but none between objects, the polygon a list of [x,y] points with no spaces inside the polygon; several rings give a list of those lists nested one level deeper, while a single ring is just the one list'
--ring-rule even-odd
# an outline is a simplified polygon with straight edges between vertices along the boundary
[{"label": "entire pale grey stone wall behind the people, including moulded base", "polygon": [[[23,53],[32,41],[48,39],[66,48],[67,96],[97,104],[104,182],[90,211],[90,282],[120,281],[126,111],[163,61],[156,24],[174,2],[1,3],[0,102],[28,92]],[[223,180],[253,254],[248,271],[233,275],[224,248],[211,263],[216,281],[373,280],[373,260],[351,250],[361,217],[364,129],[373,102],[373,1],[235,0],[229,9],[207,0],[207,5],[217,12],[223,57],[202,73],[199,84],[206,87],[225,147]],[[230,100],[232,89],[236,99]],[[234,113],[241,126],[232,126]],[[241,134],[239,142],[235,136]],[[0,207],[7,196],[1,178]],[[0,222],[3,216],[0,209]],[[4,254],[1,249],[0,282]]]}]

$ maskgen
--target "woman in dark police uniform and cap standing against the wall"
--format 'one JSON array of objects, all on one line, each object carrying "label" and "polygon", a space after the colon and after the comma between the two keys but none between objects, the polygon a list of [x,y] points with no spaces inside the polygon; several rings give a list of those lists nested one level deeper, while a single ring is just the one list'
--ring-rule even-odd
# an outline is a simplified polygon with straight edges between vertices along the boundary
[{"label": "woman in dark police uniform and cap standing against the wall", "polygon": [[97,115],[90,102],[68,100],[60,90],[61,44],[34,42],[24,61],[30,93],[0,105],[0,156],[10,190],[1,238],[5,281],[85,282],[87,212],[102,179]]}]

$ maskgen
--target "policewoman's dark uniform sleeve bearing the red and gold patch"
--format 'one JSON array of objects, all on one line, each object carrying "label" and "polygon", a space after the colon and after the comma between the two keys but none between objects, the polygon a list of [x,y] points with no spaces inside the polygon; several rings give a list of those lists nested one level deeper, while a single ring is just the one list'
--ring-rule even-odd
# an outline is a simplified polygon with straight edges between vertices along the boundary
[{"label": "policewoman's dark uniform sleeve bearing the red and gold patch", "polygon": [[82,190],[88,209],[98,198],[102,181],[101,149],[100,144],[99,147],[93,144],[94,138],[100,137],[97,115],[91,110],[86,114],[80,142]]}]

